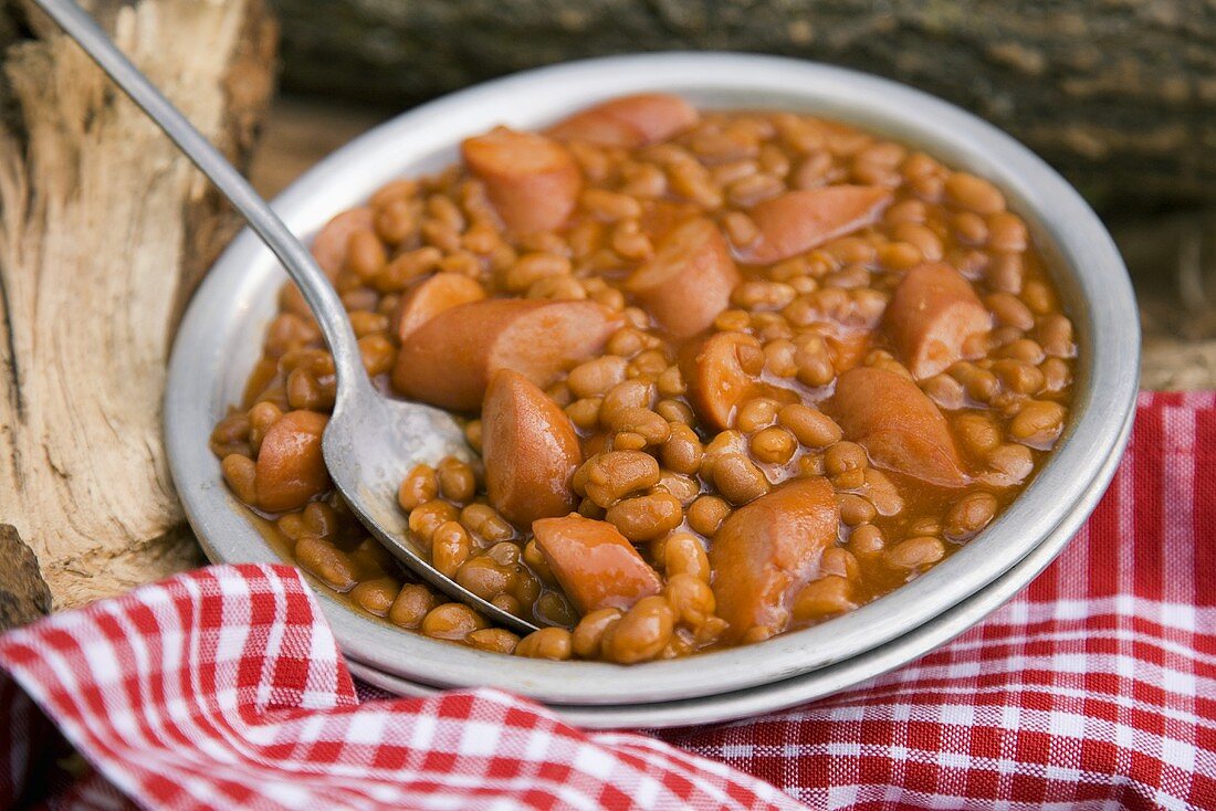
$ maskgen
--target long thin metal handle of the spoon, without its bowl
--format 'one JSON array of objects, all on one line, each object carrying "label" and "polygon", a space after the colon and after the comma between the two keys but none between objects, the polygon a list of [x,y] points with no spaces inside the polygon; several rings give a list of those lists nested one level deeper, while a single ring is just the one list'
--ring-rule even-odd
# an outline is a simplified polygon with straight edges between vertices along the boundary
[{"label": "long thin metal handle of the spoon, without its bowl", "polygon": [[[241,176],[202,133],[181,114],[173,102],[131,64],[80,6],[73,0],[34,0],[102,71],[109,74],[123,92],[164,130],[199,171],[220,190],[220,193],[241,213],[261,241],[274,252],[304,294],[325,334],[342,389],[367,385],[362,356],[355,333],[347,320],[338,294],[313,254],[287,230],[278,215]],[[343,379],[345,378],[345,379]]]}]

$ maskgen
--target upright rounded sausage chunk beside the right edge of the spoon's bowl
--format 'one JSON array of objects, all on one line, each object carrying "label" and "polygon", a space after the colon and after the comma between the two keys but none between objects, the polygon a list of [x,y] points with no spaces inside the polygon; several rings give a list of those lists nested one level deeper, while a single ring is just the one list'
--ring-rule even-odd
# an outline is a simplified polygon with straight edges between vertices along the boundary
[{"label": "upright rounded sausage chunk beside the right edge of the spoon's bowl", "polygon": [[565,412],[518,372],[500,368],[482,406],[482,458],[490,505],[516,526],[575,507],[570,477],[582,462]]}]

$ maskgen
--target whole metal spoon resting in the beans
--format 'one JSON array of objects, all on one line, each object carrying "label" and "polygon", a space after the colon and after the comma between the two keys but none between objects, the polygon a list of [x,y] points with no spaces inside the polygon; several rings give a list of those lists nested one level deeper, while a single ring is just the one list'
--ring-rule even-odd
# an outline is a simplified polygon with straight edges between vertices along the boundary
[{"label": "whole metal spoon resting in the beans", "polygon": [[299,286],[316,316],[337,370],[338,393],[322,447],[334,486],[365,526],[420,578],[449,597],[520,633],[536,630],[443,575],[415,548],[396,488],[418,462],[468,460],[465,434],[446,411],[390,400],[364,368],[355,333],[328,278],[232,164],[196,130],[106,33],[72,0],[35,0],[220,190]]}]

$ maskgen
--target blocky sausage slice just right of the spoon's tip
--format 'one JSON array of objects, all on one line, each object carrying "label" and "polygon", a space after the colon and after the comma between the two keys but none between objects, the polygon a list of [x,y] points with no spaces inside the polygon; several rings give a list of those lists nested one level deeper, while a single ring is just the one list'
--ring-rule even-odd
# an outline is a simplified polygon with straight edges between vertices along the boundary
[{"label": "blocky sausage slice just right of the spoon's tip", "polygon": [[536,546],[580,613],[629,609],[659,593],[663,581],[612,524],[579,514],[533,524]]}]

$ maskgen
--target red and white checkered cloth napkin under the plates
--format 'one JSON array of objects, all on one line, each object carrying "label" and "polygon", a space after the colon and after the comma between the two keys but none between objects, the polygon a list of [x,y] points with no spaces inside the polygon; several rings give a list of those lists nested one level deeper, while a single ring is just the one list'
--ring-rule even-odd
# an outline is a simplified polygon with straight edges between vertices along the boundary
[{"label": "red and white checkered cloth napkin under the plates", "polygon": [[[734,723],[584,733],[495,691],[360,704],[282,567],[54,616],[0,637],[0,805],[58,781],[52,807],[1216,809],[1216,398],[1145,395],[1094,517],[983,625]],[[54,766],[35,705],[92,767]]]}]

